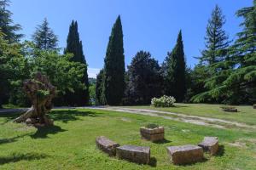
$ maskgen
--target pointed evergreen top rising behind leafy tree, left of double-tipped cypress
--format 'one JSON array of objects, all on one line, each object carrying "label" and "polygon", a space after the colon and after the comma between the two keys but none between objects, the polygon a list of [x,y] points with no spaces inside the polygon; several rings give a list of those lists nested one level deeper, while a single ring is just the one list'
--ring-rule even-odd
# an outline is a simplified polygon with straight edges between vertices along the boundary
[{"label": "pointed evergreen top rising behind leafy tree, left of double-tipped cypress", "polygon": [[58,37],[54,31],[49,28],[49,22],[44,19],[43,24],[38,26],[32,35],[36,47],[44,50],[55,50],[58,46]]}]

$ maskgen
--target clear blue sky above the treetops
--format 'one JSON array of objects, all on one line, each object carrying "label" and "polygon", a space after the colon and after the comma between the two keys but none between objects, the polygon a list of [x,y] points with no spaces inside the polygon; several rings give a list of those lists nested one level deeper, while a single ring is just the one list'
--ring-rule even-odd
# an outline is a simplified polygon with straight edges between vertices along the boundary
[{"label": "clear blue sky above the treetops", "polygon": [[253,0],[12,0],[10,10],[30,39],[35,27],[46,17],[66,46],[68,27],[79,22],[80,39],[89,65],[90,77],[103,66],[108,37],[114,21],[121,15],[124,31],[125,65],[139,50],[149,51],[160,63],[171,51],[180,29],[183,31],[187,65],[194,66],[204,48],[207,20],[218,4],[226,15],[224,28],[230,38],[240,31],[241,19],[236,10],[253,4]]}]

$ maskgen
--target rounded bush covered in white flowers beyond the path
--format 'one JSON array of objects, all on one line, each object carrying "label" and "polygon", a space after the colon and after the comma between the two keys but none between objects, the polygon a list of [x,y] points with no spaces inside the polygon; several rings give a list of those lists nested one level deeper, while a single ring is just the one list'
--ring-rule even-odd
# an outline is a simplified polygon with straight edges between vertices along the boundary
[{"label": "rounded bush covered in white flowers beyond the path", "polygon": [[175,101],[176,99],[174,99],[172,96],[164,95],[160,98],[151,99],[151,105],[154,105],[154,107],[171,107]]}]

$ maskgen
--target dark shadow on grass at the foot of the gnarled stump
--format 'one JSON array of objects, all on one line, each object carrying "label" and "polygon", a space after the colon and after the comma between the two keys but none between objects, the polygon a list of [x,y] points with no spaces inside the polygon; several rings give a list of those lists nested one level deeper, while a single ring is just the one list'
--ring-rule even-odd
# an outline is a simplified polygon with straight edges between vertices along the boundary
[{"label": "dark shadow on grass at the foot of the gnarled stump", "polygon": [[48,134],[55,134],[65,131],[67,130],[64,130],[58,126],[38,127],[38,131],[32,134],[31,137],[32,139],[45,139],[48,138]]}]

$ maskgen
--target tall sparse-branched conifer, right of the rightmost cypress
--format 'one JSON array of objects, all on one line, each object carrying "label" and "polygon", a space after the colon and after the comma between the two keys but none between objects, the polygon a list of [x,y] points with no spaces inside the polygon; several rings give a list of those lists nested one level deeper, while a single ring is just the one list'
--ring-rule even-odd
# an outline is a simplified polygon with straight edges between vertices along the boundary
[{"label": "tall sparse-branched conifer, right of the rightmost cypress", "polygon": [[223,94],[211,91],[222,85],[234,67],[228,55],[230,41],[223,28],[225,21],[221,8],[216,5],[207,24],[206,49],[202,51],[202,56],[199,58],[199,65],[202,66],[201,68],[205,68],[205,71],[197,77],[204,82],[204,87],[201,88],[204,89],[204,92],[196,94],[192,101],[219,103],[225,98]]}]

